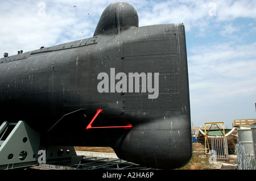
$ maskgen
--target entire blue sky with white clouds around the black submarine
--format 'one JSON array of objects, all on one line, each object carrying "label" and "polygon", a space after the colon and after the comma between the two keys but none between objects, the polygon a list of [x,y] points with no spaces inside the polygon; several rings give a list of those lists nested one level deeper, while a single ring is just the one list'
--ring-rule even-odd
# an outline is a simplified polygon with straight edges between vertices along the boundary
[{"label": "entire blue sky with white clouds around the black submarine", "polygon": [[[1,1],[0,54],[92,37],[115,1]],[[129,0],[139,26],[184,23],[194,126],[256,118],[256,1]],[[76,7],[73,7],[73,6]]]}]

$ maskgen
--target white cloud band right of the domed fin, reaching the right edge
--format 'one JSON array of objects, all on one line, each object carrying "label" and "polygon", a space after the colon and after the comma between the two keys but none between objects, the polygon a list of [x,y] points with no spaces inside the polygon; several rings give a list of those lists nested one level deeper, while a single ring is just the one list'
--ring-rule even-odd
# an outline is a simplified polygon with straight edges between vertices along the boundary
[{"label": "white cloud band right of the domed fin, reaching the right edge", "polygon": [[[151,8],[149,8],[151,7]],[[197,35],[207,36],[212,28],[222,30],[222,35],[239,31],[240,27],[230,24],[238,18],[256,19],[255,1],[162,1],[145,3],[140,9],[140,26],[160,23],[184,23],[186,31],[196,30]],[[224,27],[218,23],[227,23]]]}]

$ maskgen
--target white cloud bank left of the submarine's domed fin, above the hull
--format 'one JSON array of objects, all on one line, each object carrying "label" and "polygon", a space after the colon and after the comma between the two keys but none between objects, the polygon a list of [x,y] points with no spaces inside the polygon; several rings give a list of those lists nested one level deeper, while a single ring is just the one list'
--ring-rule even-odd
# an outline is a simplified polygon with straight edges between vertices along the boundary
[{"label": "white cloud bank left of the submarine's domed fin, above the hull", "polygon": [[[92,37],[98,19],[110,2],[1,2],[0,52],[16,54]],[[76,5],[76,7],[73,7]],[[4,8],[3,8],[4,7]],[[88,15],[89,14],[89,15]]]}]

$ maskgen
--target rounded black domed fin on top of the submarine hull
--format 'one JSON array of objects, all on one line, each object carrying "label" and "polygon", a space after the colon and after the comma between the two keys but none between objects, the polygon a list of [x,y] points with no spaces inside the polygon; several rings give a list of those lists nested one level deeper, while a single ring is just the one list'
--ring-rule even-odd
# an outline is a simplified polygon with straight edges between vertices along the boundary
[{"label": "rounded black domed fin on top of the submarine hull", "polygon": [[137,11],[126,2],[114,2],[101,15],[93,36],[113,35],[122,30],[136,28],[139,24]]}]

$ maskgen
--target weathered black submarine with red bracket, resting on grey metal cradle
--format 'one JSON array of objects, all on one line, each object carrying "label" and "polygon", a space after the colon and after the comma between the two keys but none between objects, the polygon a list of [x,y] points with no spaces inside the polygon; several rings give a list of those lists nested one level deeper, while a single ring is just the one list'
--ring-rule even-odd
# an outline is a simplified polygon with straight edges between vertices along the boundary
[{"label": "weathered black submarine with red bracket, resting on grey metal cradle", "polygon": [[192,156],[184,24],[139,27],[126,2],[93,37],[0,59],[0,123],[24,121],[40,145],[109,146],[126,161],[176,169]]}]

